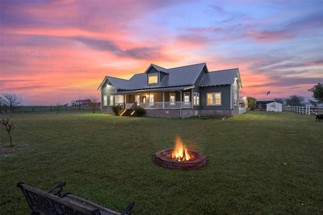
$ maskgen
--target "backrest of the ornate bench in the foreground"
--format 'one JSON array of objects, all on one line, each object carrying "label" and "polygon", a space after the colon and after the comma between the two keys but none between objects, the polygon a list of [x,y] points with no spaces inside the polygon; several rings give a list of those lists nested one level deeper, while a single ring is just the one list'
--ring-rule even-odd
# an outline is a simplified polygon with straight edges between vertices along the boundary
[{"label": "backrest of the ornate bench in the foreground", "polygon": [[98,209],[52,195],[22,182],[19,182],[17,186],[23,191],[33,211],[48,215],[101,215]]}]

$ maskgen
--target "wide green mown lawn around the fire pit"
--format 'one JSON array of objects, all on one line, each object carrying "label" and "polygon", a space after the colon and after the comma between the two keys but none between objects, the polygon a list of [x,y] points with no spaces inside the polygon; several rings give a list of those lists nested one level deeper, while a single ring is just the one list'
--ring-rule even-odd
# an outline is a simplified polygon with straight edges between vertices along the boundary
[{"label": "wide green mown lawn around the fire pit", "polygon": [[[1,118],[7,118],[2,114]],[[27,214],[18,181],[64,190],[133,214],[322,214],[323,123],[292,112],[248,111],[224,121],[19,113],[1,131],[1,214]],[[179,135],[204,153],[198,170],[169,170],[154,153]],[[64,191],[63,190],[63,191]]]}]

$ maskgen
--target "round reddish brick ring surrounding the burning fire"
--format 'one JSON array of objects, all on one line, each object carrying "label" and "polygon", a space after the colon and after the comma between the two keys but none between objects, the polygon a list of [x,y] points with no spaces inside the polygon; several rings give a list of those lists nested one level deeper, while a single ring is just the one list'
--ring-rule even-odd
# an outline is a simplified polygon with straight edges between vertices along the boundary
[{"label": "round reddish brick ring surrounding the burning fire", "polygon": [[188,152],[192,153],[195,157],[194,160],[189,161],[174,161],[172,159],[166,158],[166,155],[172,154],[174,149],[166,149],[161,150],[155,153],[155,161],[161,167],[165,167],[168,169],[176,169],[176,170],[194,170],[203,167],[206,164],[206,157],[204,154],[195,151],[188,150]]}]

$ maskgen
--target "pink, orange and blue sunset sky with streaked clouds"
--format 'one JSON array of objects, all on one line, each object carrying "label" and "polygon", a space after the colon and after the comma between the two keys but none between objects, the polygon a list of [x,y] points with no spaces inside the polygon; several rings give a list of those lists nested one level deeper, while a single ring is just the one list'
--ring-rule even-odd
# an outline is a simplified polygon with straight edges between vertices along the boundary
[{"label": "pink, orange and blue sunset sky with streaked clouds", "polygon": [[[312,99],[323,1],[1,1],[1,92],[24,105],[100,98],[153,63],[239,68],[240,97]],[[271,94],[266,97],[267,91]]]}]

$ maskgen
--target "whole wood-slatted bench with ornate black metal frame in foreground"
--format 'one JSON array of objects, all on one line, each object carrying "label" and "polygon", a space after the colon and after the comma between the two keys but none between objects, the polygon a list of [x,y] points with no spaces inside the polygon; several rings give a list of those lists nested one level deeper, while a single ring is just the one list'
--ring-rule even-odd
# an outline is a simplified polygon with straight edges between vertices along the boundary
[{"label": "whole wood-slatted bench with ornate black metal frame in foreground", "polygon": [[[28,186],[23,182],[18,182],[24,193],[32,211],[30,215],[48,214],[48,215],[124,215],[131,214],[134,202],[129,202],[122,213],[98,205],[92,201],[74,196],[67,192],[61,194],[66,182],[61,181],[47,192]],[[58,189],[57,193],[50,192]]]}]

